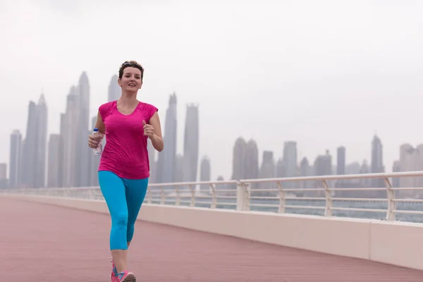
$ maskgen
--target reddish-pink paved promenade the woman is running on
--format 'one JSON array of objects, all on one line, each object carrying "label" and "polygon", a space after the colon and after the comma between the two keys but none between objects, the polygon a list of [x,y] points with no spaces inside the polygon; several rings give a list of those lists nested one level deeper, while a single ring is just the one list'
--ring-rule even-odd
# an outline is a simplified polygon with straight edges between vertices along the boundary
[{"label": "reddish-pink paved promenade the woman is running on", "polygon": [[[109,227],[107,214],[0,196],[0,281],[110,281]],[[423,271],[142,221],[129,262],[137,281],[423,281]]]}]

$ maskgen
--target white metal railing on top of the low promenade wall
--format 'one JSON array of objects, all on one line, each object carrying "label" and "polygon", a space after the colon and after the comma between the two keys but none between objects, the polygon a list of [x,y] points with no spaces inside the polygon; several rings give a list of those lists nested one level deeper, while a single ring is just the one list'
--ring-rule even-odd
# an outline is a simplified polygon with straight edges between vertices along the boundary
[{"label": "white metal railing on top of the low promenade wall", "polygon": [[[393,188],[391,185],[390,178],[412,177],[423,178],[423,171],[154,183],[149,185],[145,202],[210,209],[423,222],[421,216],[423,214],[423,188]],[[334,181],[376,178],[384,180],[384,187],[333,187]],[[295,185],[295,188],[286,188],[286,185],[292,183],[311,183],[311,185]],[[407,190],[417,192],[419,195],[415,198],[402,199],[398,197],[401,192]],[[347,191],[355,194],[350,197],[343,196],[343,193]],[[418,193],[418,191],[422,192]],[[99,187],[14,188],[0,190],[0,193],[104,201]]]}]

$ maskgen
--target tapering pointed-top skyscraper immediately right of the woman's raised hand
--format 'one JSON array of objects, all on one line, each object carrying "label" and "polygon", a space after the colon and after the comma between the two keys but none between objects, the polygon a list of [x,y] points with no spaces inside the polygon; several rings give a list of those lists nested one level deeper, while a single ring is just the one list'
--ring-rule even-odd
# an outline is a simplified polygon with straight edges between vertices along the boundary
[{"label": "tapering pointed-top skyscraper immediately right of the woman's raised hand", "polygon": [[157,183],[175,182],[176,168],[176,93],[169,97],[169,105],[166,110],[166,120],[164,127],[164,150],[159,152],[157,164]]}]

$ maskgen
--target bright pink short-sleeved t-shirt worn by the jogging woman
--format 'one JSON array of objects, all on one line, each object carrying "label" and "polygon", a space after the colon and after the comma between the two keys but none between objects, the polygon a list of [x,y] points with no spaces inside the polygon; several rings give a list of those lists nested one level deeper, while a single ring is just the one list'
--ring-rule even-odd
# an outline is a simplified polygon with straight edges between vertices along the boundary
[{"label": "bright pink short-sleeved t-shirt worn by the jogging woman", "polygon": [[100,159],[99,171],[111,171],[127,179],[149,177],[147,136],[142,121],[158,111],[153,105],[140,102],[132,114],[118,111],[117,102],[99,106],[99,113],[106,125],[106,146]]}]

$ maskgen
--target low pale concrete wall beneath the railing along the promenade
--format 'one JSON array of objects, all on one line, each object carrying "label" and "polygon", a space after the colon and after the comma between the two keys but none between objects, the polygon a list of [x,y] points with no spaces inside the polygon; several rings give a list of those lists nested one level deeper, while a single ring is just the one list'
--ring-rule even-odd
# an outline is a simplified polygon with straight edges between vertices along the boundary
[{"label": "low pale concrete wall beneath the railing along the promenade", "polygon": [[[16,196],[22,200],[108,213],[102,201]],[[398,221],[144,204],[138,219],[264,243],[369,259],[423,270],[423,225]]]}]

